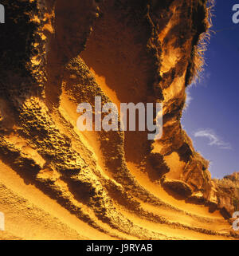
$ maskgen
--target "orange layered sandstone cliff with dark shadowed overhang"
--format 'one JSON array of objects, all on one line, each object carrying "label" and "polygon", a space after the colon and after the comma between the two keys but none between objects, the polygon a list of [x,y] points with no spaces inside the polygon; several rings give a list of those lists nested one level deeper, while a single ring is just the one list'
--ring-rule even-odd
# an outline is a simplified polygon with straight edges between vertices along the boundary
[{"label": "orange layered sandstone cliff with dark shadowed overhang", "polygon": [[[1,3],[1,239],[239,238],[237,174],[211,179],[180,124],[210,3]],[[163,102],[162,139],[80,132],[76,106],[95,96]]]}]

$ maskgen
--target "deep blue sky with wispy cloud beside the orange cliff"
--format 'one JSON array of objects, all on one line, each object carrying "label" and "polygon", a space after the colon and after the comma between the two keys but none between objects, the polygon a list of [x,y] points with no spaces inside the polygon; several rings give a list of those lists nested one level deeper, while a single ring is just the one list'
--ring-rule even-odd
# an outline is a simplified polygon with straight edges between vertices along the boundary
[{"label": "deep blue sky with wispy cloud beside the orange cliff", "polygon": [[214,178],[239,171],[239,24],[233,5],[217,0],[214,26],[202,80],[190,85],[189,106],[182,125],[195,149],[210,160]]}]

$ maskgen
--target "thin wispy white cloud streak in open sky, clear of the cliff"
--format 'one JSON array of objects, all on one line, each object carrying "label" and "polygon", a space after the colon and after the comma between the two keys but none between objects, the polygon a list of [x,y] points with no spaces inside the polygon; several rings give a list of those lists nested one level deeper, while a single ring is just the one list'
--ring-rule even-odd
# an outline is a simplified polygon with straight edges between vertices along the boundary
[{"label": "thin wispy white cloud streak in open sky, clear of the cliff", "polygon": [[212,129],[200,129],[198,130],[198,132],[194,132],[194,136],[195,137],[206,137],[209,139],[209,146],[217,146],[218,148],[221,149],[232,149],[231,144],[229,144],[228,142],[225,142],[223,140],[221,140],[221,138],[219,136],[217,136],[217,134],[214,132],[214,130]]}]

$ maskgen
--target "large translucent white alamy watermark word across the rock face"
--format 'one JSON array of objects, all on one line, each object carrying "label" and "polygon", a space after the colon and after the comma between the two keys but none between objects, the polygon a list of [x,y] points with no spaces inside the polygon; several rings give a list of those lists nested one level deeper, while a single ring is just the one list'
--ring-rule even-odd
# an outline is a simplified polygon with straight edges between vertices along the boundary
[{"label": "large translucent white alamy watermark word across the rock face", "polygon": [[[80,131],[149,131],[148,140],[159,140],[163,135],[163,104],[121,103],[120,120],[116,104],[108,102],[103,105],[100,96],[95,97],[95,106],[89,103],[80,103],[76,112],[81,113],[77,120]],[[136,122],[136,111],[139,119]],[[93,120],[94,117],[94,120]],[[93,122],[94,121],[94,122]],[[94,125],[93,125],[94,123]],[[137,124],[137,125],[136,125]],[[93,127],[94,126],[94,127]],[[146,129],[147,127],[147,129]]]}]

